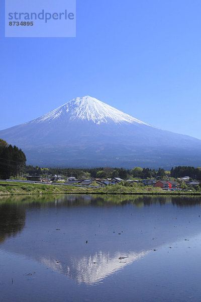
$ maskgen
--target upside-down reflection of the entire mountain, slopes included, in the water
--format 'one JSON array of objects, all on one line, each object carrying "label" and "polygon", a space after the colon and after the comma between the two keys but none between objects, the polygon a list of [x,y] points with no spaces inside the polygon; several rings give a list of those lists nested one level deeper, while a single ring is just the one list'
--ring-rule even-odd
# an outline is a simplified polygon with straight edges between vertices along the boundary
[{"label": "upside-down reflection of the entire mountain, slopes included, in the water", "polygon": [[78,283],[94,284],[153,249],[200,233],[200,200],[121,195],[0,199],[0,247]]}]

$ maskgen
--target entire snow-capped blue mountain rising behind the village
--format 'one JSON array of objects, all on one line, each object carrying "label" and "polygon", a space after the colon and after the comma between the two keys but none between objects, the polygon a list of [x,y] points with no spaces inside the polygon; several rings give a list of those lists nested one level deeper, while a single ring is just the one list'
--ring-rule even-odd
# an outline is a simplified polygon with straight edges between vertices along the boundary
[{"label": "entire snow-capped blue mountain rising behind the village", "polygon": [[0,131],[41,167],[201,166],[201,140],[155,128],[89,96]]}]

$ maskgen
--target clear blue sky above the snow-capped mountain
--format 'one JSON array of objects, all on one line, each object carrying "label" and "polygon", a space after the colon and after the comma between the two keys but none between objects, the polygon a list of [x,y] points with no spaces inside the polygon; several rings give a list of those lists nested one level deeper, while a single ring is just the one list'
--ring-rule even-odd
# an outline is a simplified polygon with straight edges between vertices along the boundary
[{"label": "clear blue sky above the snow-capped mountain", "polygon": [[90,95],[201,139],[201,2],[77,0],[76,38],[5,38],[0,129]]}]

